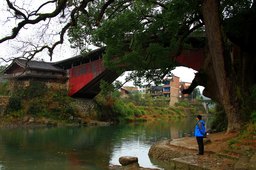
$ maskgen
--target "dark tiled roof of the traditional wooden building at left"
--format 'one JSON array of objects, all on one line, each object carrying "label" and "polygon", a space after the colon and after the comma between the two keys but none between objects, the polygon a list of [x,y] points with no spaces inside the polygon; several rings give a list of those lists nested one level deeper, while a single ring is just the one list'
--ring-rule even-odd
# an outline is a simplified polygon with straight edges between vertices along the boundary
[{"label": "dark tiled roof of the traditional wooden building at left", "polygon": [[23,67],[25,67],[27,64],[28,68],[65,72],[65,70],[63,70],[57,66],[54,66],[53,62],[42,62],[42,61],[32,61],[32,60],[27,62],[27,60],[20,59],[20,58],[15,59],[15,62]]}]

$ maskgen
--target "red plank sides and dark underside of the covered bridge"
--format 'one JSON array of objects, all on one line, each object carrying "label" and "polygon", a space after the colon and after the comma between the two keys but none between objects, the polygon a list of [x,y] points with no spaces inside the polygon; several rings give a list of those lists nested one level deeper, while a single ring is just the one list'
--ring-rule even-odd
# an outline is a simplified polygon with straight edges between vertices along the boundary
[{"label": "red plank sides and dark underside of the covered bridge", "polygon": [[[115,72],[103,67],[104,50],[104,48],[97,49],[86,57],[79,55],[55,64],[60,68],[66,68],[69,72],[69,96],[92,99],[100,93],[101,80],[110,84],[119,77]],[[184,50],[184,53],[177,57],[177,66],[185,66],[197,71],[202,63],[203,49]]]}]

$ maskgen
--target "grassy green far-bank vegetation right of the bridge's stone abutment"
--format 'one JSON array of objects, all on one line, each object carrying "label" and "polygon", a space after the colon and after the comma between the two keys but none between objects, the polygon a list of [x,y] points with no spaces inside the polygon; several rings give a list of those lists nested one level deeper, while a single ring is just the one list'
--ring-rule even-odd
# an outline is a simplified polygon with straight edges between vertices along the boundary
[{"label": "grassy green far-bank vegetation right of the bridge's stone abutment", "polygon": [[159,119],[172,119],[205,114],[201,102],[188,102],[182,100],[174,107],[138,106],[137,102],[118,97],[96,98],[97,109],[90,115],[100,121],[148,121]]}]

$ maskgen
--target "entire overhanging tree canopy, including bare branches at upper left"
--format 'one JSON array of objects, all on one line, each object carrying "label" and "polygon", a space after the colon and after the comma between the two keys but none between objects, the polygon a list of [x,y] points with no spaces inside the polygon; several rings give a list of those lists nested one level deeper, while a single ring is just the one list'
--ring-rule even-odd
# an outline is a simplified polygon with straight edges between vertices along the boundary
[{"label": "entire overhanging tree canopy, including bare branches at upper left", "polygon": [[[90,45],[106,46],[104,65],[120,75],[125,70],[134,70],[126,80],[134,80],[135,85],[141,84],[143,78],[160,84],[163,77],[175,68],[175,59],[182,50],[191,49],[191,41],[186,41],[188,36],[202,37],[204,34],[204,19],[198,1],[44,0],[39,4],[33,0],[24,3],[5,0],[5,3],[3,10],[9,15],[4,25],[13,20],[16,24],[12,26],[11,35],[1,36],[0,43],[21,41],[23,47],[19,49],[22,54],[15,57],[31,60],[43,50],[48,50],[52,57],[68,31],[71,47],[79,48],[81,53],[88,52]],[[237,35],[234,27],[240,26],[241,17],[250,12],[252,0],[220,3],[230,35]],[[38,5],[32,8],[31,4]],[[47,7],[51,13],[45,10]],[[56,27],[59,32],[49,33],[55,17],[62,29]],[[42,26],[37,26],[39,23]],[[27,27],[42,29],[38,29],[36,39],[20,40],[18,34]],[[59,40],[46,41],[47,37],[54,35],[58,35]],[[118,60],[113,60],[114,57]],[[124,67],[120,68],[120,65]]]}]

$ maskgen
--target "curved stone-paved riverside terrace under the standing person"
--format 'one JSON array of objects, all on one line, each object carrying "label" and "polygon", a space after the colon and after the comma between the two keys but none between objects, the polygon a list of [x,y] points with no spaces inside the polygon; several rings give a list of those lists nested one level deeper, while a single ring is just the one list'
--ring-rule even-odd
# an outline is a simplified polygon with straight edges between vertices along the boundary
[{"label": "curved stone-paved riverside terrace under the standing person", "polygon": [[213,154],[196,155],[198,153],[196,147],[197,145],[186,145],[186,142],[181,143],[179,139],[161,141],[151,146],[149,155],[152,158],[169,162],[170,170],[234,169],[236,159],[219,158]]}]

